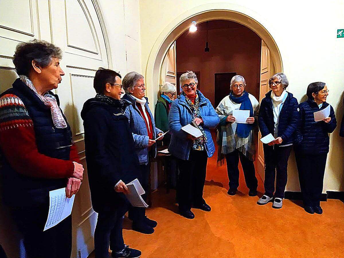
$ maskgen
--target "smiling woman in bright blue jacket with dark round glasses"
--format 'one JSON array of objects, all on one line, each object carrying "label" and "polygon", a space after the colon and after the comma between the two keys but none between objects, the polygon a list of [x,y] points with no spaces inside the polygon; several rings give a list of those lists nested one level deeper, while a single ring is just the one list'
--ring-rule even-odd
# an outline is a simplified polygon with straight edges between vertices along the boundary
[{"label": "smiling woman in bright blue jacket with dark round glasses", "polygon": [[[219,118],[209,99],[197,90],[197,76],[187,72],[180,77],[183,92],[172,102],[169,125],[172,133],[169,151],[178,159],[179,182],[177,196],[179,212],[185,218],[193,219],[191,208],[210,212],[211,207],[203,199],[203,188],[208,158],[215,152],[209,128],[218,125]],[[195,138],[182,127],[196,123],[202,132]]]}]

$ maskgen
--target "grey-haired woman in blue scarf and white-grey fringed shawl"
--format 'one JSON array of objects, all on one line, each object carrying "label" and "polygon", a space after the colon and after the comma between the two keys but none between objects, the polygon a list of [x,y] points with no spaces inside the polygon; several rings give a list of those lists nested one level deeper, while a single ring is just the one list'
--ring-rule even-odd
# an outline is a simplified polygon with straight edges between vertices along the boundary
[{"label": "grey-haired woman in blue scarf and white-grey fringed shawl", "polygon": [[[258,181],[253,161],[256,156],[255,139],[257,137],[259,102],[245,91],[246,81],[241,75],[235,75],[230,81],[230,94],[223,98],[216,108],[220,118],[217,133],[218,162],[227,162],[229,195],[235,195],[239,186],[239,158],[243,166],[245,182],[249,196],[257,195]],[[233,110],[249,110],[246,123],[237,123]]]}]

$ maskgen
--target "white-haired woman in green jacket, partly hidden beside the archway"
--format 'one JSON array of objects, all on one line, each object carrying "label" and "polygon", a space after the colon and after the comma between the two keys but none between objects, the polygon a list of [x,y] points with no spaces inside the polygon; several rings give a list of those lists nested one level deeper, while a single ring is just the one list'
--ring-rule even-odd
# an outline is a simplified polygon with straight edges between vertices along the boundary
[{"label": "white-haired woman in green jacket, partly hidden beside the archway", "polygon": [[[163,132],[167,132],[169,130],[168,116],[176,91],[176,87],[172,83],[165,83],[161,88],[161,96],[155,105],[155,125]],[[168,146],[170,144],[170,140],[171,135],[166,134],[163,139],[164,145]]]}]

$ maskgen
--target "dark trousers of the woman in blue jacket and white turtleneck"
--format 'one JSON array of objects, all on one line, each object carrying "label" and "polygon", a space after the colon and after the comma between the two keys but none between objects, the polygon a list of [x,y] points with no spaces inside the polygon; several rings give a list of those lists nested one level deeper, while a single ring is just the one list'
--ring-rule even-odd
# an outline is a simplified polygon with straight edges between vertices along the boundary
[{"label": "dark trousers of the woman in blue jacket and white turtleneck", "polygon": [[[151,163],[148,162],[147,165],[140,165],[140,178],[139,181],[142,185],[142,188],[144,190],[144,192],[146,192],[145,194],[142,195],[143,200],[146,202],[147,201],[147,193],[148,191],[150,191],[149,188],[149,174],[150,174],[150,165]],[[133,207],[130,205],[129,207],[129,213],[128,213],[128,217],[135,223],[140,223],[140,221],[142,221],[142,219],[146,216],[146,208],[144,207]]]}]

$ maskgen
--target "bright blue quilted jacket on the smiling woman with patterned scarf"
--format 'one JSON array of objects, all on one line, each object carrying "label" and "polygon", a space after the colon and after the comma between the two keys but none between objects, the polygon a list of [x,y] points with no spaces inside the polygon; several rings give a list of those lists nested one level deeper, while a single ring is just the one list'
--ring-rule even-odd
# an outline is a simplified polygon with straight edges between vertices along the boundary
[{"label": "bright blue quilted jacket on the smiling woman with patterned scarf", "polygon": [[[207,154],[210,158],[215,152],[215,146],[209,128],[215,128],[220,119],[209,99],[204,97],[199,90],[197,90],[197,94],[200,97],[200,117],[203,119],[203,128],[208,139]],[[169,112],[169,127],[172,134],[169,152],[182,160],[189,159],[192,141],[187,139],[187,133],[181,128],[191,123],[192,120],[192,111],[182,94],[172,102]]]}]

